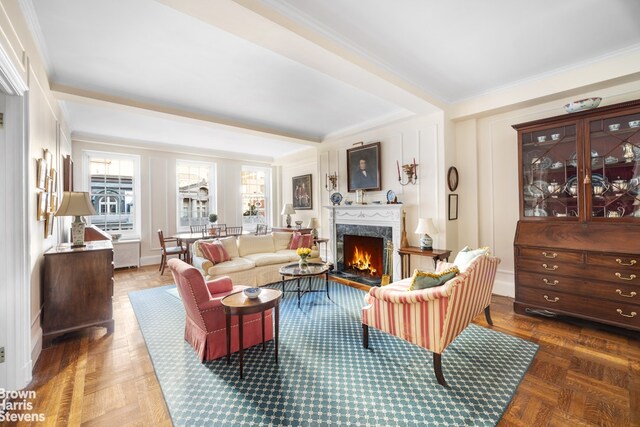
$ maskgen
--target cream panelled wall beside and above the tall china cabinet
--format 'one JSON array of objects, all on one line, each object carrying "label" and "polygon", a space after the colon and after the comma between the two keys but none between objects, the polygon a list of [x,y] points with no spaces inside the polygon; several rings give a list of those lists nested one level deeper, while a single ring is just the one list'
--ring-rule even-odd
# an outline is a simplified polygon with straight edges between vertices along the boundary
[{"label": "cream panelled wall beside and above the tall china cabinet", "polygon": [[514,296],[513,239],[518,212],[517,123],[566,114],[569,101],[600,96],[601,105],[640,98],[640,80],[601,87],[570,98],[455,123],[460,171],[458,246],[489,246],[501,258],[494,293]]}]

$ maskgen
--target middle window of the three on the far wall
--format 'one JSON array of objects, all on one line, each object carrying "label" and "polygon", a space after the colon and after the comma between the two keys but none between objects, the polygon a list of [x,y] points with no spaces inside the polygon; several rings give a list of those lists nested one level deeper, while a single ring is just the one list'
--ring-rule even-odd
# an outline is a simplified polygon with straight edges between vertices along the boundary
[{"label": "middle window of the three on the far wall", "polygon": [[216,188],[213,177],[214,164],[183,160],[176,163],[179,231],[207,224],[209,213],[217,213],[214,191],[209,191]]}]

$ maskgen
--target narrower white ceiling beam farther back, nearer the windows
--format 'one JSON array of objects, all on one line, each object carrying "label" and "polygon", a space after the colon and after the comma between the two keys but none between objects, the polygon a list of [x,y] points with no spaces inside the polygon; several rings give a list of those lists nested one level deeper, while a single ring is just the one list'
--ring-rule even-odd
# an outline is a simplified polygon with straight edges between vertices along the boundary
[{"label": "narrower white ceiling beam farther back, nearer the windows", "polygon": [[151,114],[173,120],[184,120],[190,123],[209,124],[216,127],[222,127],[225,130],[232,132],[253,134],[262,138],[278,139],[302,145],[317,146],[317,144],[321,142],[320,139],[282,132],[281,130],[267,127],[250,125],[215,115],[195,113],[178,108],[136,101],[129,98],[93,92],[58,83],[51,83],[50,86],[56,99],[61,101],[74,101],[99,107],[119,108],[134,111],[136,113]]}]

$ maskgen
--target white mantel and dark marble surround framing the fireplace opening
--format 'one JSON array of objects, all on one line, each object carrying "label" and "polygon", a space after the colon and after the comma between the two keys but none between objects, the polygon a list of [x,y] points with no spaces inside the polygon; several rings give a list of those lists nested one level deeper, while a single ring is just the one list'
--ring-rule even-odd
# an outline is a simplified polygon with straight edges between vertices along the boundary
[{"label": "white mantel and dark marble surround framing the fireplace opening", "polygon": [[[351,206],[325,206],[329,211],[329,229],[331,230],[331,246],[333,263],[336,270],[345,268],[344,236],[364,236],[380,238],[383,252],[384,272],[384,248],[387,240],[393,242],[393,275],[392,280],[400,280],[400,234],[402,232],[402,211],[404,205],[351,205]],[[362,274],[365,275],[365,274]],[[379,282],[379,277],[377,278]]]}]

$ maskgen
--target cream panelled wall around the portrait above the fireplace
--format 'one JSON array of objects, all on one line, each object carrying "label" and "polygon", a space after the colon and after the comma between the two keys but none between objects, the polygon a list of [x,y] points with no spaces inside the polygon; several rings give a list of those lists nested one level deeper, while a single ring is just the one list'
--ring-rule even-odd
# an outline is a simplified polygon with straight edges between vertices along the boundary
[{"label": "cream panelled wall around the portrait above the fireplace", "polygon": [[[362,141],[364,144],[380,142],[380,173],[382,179],[381,191],[366,193],[366,201],[371,203],[379,200],[386,203],[387,191],[393,190],[398,201],[402,202],[407,213],[407,238],[411,246],[418,246],[420,236],[414,233],[418,218],[433,218],[439,229],[437,235],[432,236],[435,248],[448,246],[448,229],[455,227],[447,219],[447,192],[446,192],[446,161],[449,143],[444,138],[444,115],[434,113],[415,117],[396,123],[371,129],[365,132],[329,139],[318,148],[318,163],[320,182],[315,186],[321,195],[323,206],[331,205],[331,192],[324,189],[325,174],[338,172],[337,191],[344,199],[355,202],[355,193],[347,191],[347,149]],[[418,164],[418,181],[416,185],[402,186],[398,182],[396,161],[400,164],[408,164],[416,159]],[[406,182],[405,177],[403,180]],[[320,212],[322,228],[320,234],[329,237],[328,212],[323,209]],[[331,247],[331,245],[329,245]],[[449,248],[455,249],[455,248]],[[433,269],[432,260],[413,257],[412,266],[425,269]]]}]

